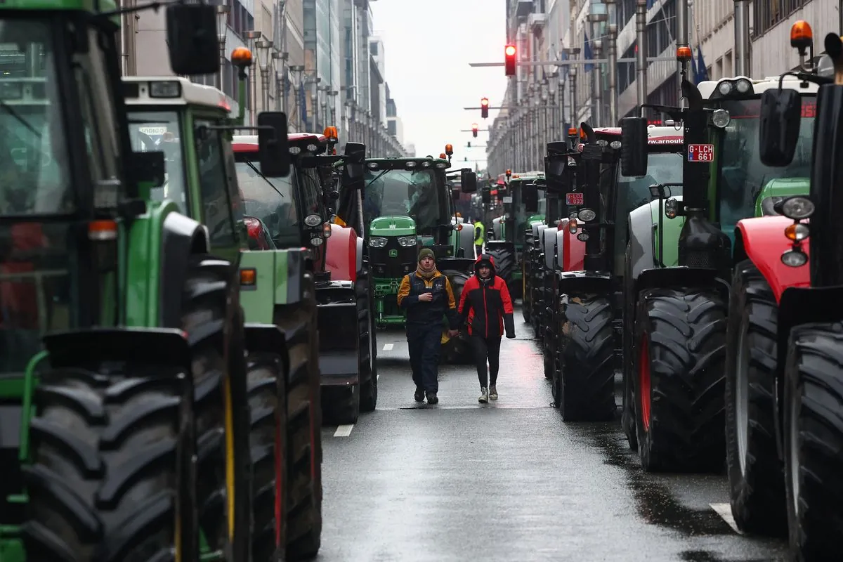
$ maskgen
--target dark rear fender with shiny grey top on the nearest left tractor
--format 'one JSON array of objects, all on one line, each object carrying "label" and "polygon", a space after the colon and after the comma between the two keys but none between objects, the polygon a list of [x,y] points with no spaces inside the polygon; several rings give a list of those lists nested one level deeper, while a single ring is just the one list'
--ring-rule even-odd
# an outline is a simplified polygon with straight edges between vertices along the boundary
[{"label": "dark rear fender with shiny grey top on the nearest left tractor", "polygon": [[[206,227],[178,212],[171,212],[164,218],[158,314],[165,328],[181,326],[181,293],[187,279],[187,257],[209,251]],[[233,264],[232,275],[235,268],[236,264]]]}]

